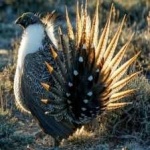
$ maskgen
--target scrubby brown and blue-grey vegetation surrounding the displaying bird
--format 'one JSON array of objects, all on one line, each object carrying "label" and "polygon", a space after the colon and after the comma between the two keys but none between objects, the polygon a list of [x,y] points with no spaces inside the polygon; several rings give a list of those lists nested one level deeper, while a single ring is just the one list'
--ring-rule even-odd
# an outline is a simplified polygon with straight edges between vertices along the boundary
[{"label": "scrubby brown and blue-grey vegetation surrounding the displaying bird", "polygon": [[[111,0],[102,1],[100,26],[103,26],[106,21],[111,2]],[[85,127],[85,130],[82,129],[82,132],[78,131],[68,140],[63,141],[61,149],[144,150],[150,148],[148,138],[150,137],[150,3],[147,0],[134,0],[132,3],[129,0],[113,2],[116,9],[111,25],[111,35],[116,31],[123,14],[127,14],[118,49],[135,32],[125,59],[141,51],[134,69],[143,70],[143,72],[126,87],[137,89],[133,95],[125,99],[132,101],[133,104],[103,114],[87,128]],[[90,11],[93,11],[94,3],[95,0],[89,1]],[[73,18],[75,1],[2,0],[0,2],[0,8],[2,8],[0,10],[0,32],[2,31],[0,48],[3,50],[0,49],[0,150],[26,149],[27,145],[35,150],[42,150],[51,146],[49,137],[46,141],[50,142],[43,141],[43,137],[47,137],[45,134],[36,136],[40,128],[30,116],[19,112],[14,104],[13,77],[18,49],[16,39],[20,35],[20,29],[12,21],[25,11],[37,12],[38,10],[38,13],[42,13],[56,9],[64,14],[64,4],[68,5]],[[29,127],[31,127],[30,130]]]}]

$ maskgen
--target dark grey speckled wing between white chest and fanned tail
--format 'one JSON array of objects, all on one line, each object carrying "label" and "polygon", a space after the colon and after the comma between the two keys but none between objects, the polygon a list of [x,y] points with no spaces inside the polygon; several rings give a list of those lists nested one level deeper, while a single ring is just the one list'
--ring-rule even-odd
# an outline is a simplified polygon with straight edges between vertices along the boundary
[{"label": "dark grey speckled wing between white chest and fanned tail", "polygon": [[76,127],[64,120],[56,121],[53,116],[45,113],[48,108],[42,105],[41,99],[48,98],[49,95],[41,86],[41,81],[52,80],[47,72],[45,60],[51,62],[49,52],[38,51],[25,57],[21,89],[26,105],[44,132],[55,139],[62,139],[72,134]]}]

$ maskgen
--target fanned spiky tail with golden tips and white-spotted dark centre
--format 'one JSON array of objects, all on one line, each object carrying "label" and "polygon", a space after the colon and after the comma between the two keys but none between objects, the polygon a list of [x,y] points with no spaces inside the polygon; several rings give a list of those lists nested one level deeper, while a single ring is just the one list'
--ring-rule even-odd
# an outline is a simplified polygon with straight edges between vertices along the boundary
[{"label": "fanned spiky tail with golden tips and white-spotted dark centre", "polygon": [[66,8],[67,38],[59,29],[62,55],[60,56],[58,50],[52,45],[50,47],[57,69],[54,69],[51,64],[46,63],[46,65],[55,85],[51,86],[51,83],[42,83],[42,85],[53,96],[46,105],[53,107],[53,110],[49,109],[48,112],[57,120],[65,118],[77,124],[84,124],[107,109],[116,109],[130,104],[118,100],[133,93],[134,89],[120,90],[138,72],[123,79],[122,77],[139,53],[120,65],[132,39],[131,37],[114,55],[125,17],[110,43],[107,44],[113,5],[100,37],[98,9],[99,1],[91,21],[87,14],[87,3],[85,8],[81,7],[79,11],[77,2],[74,33]]}]

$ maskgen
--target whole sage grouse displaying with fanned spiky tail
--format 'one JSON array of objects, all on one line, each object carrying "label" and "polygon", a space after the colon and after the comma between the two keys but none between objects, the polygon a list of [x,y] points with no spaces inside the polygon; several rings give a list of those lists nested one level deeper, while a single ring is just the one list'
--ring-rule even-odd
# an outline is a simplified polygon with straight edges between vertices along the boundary
[{"label": "whole sage grouse displaying with fanned spiky tail", "polygon": [[58,28],[55,12],[44,19],[24,13],[16,21],[24,28],[14,80],[16,104],[31,113],[56,141],[109,109],[127,105],[118,102],[134,92],[120,91],[138,73],[125,76],[136,54],[121,63],[131,38],[115,52],[125,17],[108,43],[111,7],[99,36],[99,4],[91,19],[87,4],[76,8],[76,29],[66,9],[67,34]]}]

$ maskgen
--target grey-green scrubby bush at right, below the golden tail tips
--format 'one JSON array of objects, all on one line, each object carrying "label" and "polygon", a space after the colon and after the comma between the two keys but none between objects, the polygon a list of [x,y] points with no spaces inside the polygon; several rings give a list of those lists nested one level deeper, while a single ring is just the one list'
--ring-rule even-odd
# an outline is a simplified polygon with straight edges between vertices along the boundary
[{"label": "grey-green scrubby bush at right, below the golden tail tips", "polygon": [[150,84],[140,75],[126,88],[134,88],[136,92],[126,98],[131,105],[116,112],[109,112],[100,118],[104,133],[121,139],[134,139],[143,144],[150,143]]}]

